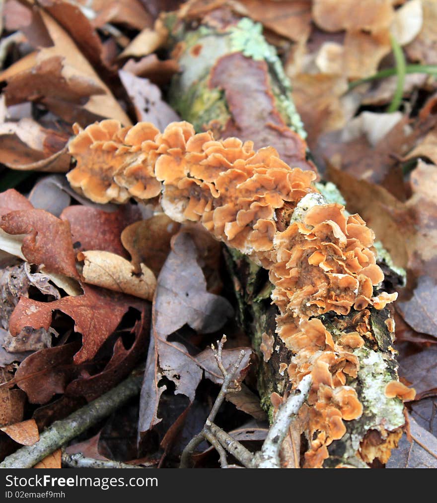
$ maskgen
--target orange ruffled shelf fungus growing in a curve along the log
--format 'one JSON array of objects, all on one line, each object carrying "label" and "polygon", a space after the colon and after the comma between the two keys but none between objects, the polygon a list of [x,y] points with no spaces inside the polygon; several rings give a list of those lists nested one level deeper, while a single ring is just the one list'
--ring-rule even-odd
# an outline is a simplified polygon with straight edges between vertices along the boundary
[{"label": "orange ruffled shelf fungus growing in a curve along the log", "polygon": [[[306,466],[322,466],[327,447],[346,432],[343,422],[362,413],[346,376],[357,376],[352,351],[364,340],[356,331],[334,343],[315,316],[345,315],[352,307],[365,315],[366,308],[383,309],[396,299],[396,293],[373,296],[384,279],[372,247],[374,232],[339,204],[320,198],[305,207],[304,198],[318,193],[312,185],[316,175],[290,168],[273,147],[255,152],[251,141],[217,141],[209,131],[195,134],[187,122],[171,123],[162,133],[150,123],[121,127],[114,120],[85,130],[75,125],[74,131],[69,152],[77,165],[67,178],[77,191],[98,203],[160,196],[169,217],[200,222],[269,270],[279,309],[276,331],[295,355],[290,381],[296,387],[303,376],[312,376]],[[294,219],[300,203],[301,217]],[[388,395],[411,398],[413,390],[394,387],[388,386]]]}]

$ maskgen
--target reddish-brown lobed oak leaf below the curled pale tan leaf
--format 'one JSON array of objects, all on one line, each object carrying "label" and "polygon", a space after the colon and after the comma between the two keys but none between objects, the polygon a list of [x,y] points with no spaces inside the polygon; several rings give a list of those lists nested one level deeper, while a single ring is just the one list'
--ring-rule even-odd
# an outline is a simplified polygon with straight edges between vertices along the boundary
[{"label": "reddish-brown lobed oak leaf below the curled pale tan leaf", "polygon": [[142,311],[142,301],[89,285],[83,288],[83,295],[63,297],[53,302],[38,302],[22,297],[10,319],[12,336],[25,326],[48,329],[52,313],[58,309],[73,318],[75,330],[82,333],[82,348],[75,355],[75,364],[91,360],[117,328],[130,306]]}]

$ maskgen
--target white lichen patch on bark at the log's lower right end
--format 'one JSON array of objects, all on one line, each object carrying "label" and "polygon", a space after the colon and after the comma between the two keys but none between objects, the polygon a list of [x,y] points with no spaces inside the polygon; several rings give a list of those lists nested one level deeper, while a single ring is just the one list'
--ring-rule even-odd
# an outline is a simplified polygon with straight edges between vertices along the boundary
[{"label": "white lichen patch on bark at the log's lower right end", "polygon": [[384,393],[393,375],[383,354],[368,348],[357,349],[353,354],[359,359],[358,380],[362,385],[359,398],[365,406],[366,430],[381,430],[383,427],[393,431],[403,426],[405,417],[402,400],[388,398]]}]

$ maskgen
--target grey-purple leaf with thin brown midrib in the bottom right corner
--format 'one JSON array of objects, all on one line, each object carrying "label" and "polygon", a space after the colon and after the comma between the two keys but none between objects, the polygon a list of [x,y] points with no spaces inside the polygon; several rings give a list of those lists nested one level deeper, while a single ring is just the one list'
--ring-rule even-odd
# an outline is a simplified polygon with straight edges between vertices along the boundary
[{"label": "grey-purple leaf with thin brown midrib in the bottom right corner", "polygon": [[409,423],[413,442],[410,443],[404,434],[399,447],[392,451],[386,468],[437,468],[437,438],[411,416]]}]

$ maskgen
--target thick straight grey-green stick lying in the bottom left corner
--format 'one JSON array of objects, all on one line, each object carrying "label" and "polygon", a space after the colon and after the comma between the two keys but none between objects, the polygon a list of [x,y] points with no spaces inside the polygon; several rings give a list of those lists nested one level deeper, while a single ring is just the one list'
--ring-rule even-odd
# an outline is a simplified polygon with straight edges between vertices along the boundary
[{"label": "thick straight grey-green stick lying in the bottom left corner", "polygon": [[0,468],[32,468],[50,453],[85,432],[139,393],[142,376],[132,375],[96,400],[88,403],[62,421],[56,421],[43,432],[39,441],[22,447],[0,463]]}]

